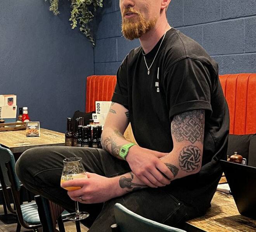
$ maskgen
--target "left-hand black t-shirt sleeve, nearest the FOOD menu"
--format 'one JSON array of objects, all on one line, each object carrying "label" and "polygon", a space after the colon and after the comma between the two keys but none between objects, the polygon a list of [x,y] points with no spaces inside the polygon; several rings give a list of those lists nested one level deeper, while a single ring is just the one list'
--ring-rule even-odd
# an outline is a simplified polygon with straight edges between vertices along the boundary
[{"label": "left-hand black t-shirt sleeve, nearest the FOOD menu", "polygon": [[117,102],[128,109],[127,56],[118,68],[116,86],[111,101]]}]

